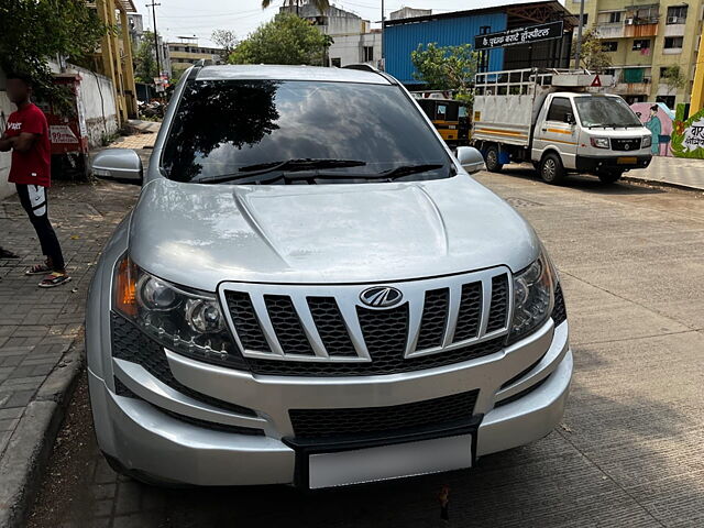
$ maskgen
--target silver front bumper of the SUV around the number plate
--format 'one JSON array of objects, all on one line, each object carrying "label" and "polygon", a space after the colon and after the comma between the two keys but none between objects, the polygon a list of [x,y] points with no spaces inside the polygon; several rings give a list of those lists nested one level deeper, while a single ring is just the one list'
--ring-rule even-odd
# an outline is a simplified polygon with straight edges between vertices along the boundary
[{"label": "silver front bumper of the SUV around the number plate", "polygon": [[[554,328],[550,320],[535,334],[490,356],[420,372],[346,378],[255,376],[167,352],[180,383],[251,407],[255,417],[193,400],[142,366],[113,360],[114,376],[138,397],[118,396],[112,380],[101,380],[89,370],[98,443],[128,470],[158,480],[197,485],[292,484],[296,452],[286,441],[293,436],[292,404],[297,408],[389,406],[479,389],[475,415],[483,419],[474,449],[481,457],[542,438],[559,422],[572,376],[568,333],[566,322]],[[499,400],[510,403],[496,405]],[[175,414],[258,427],[264,435],[206,429],[174,418]]]}]

